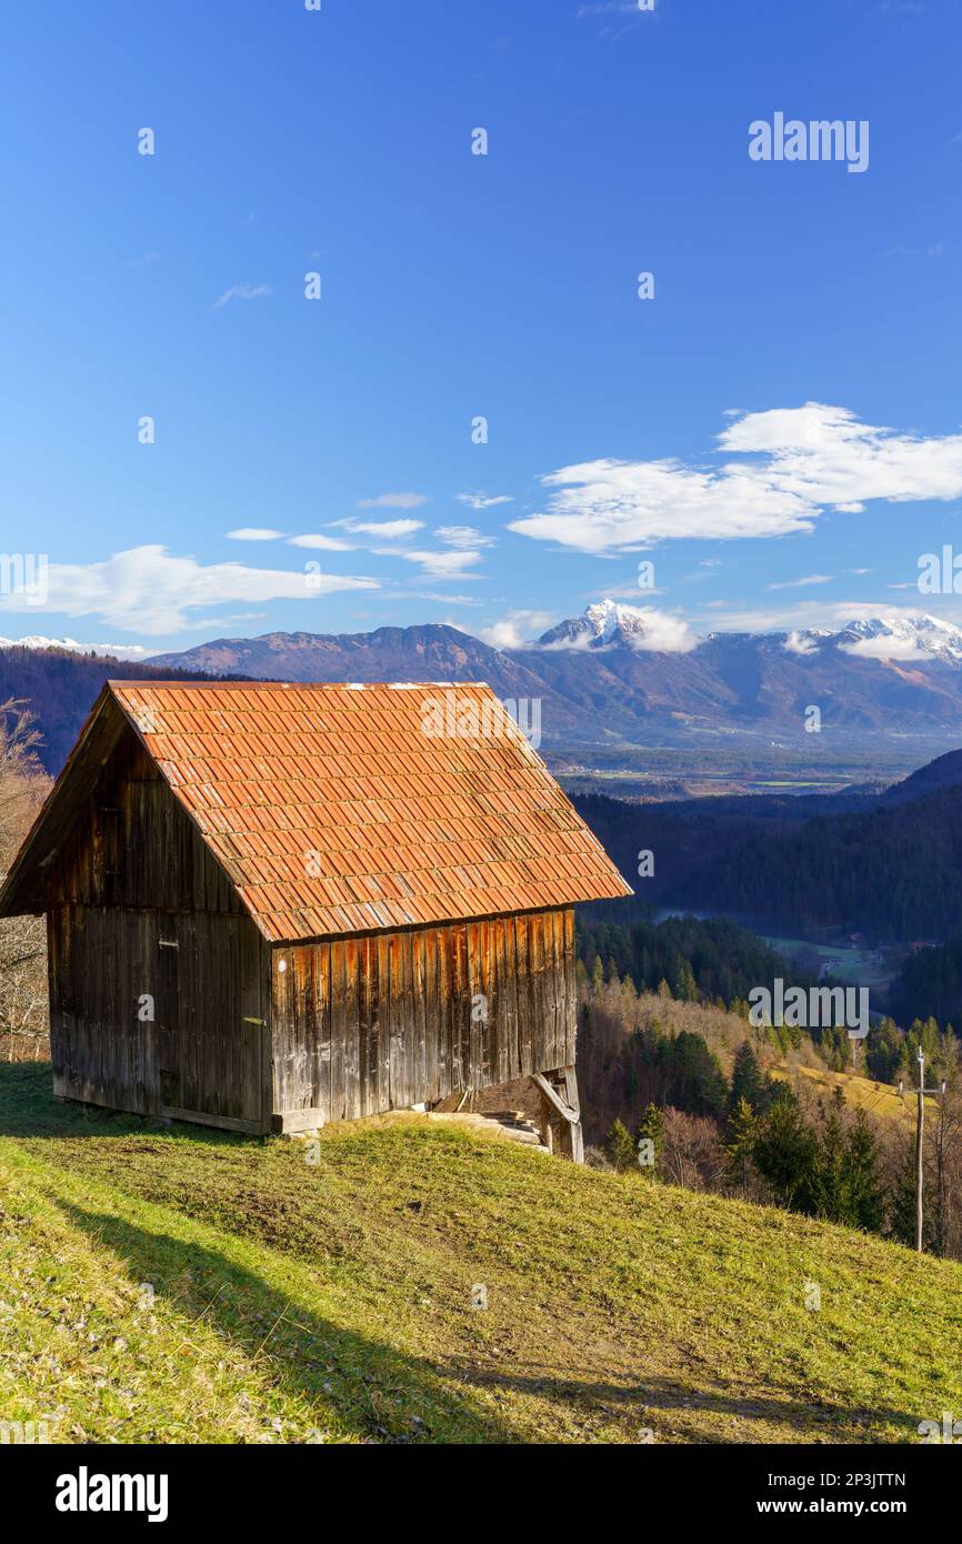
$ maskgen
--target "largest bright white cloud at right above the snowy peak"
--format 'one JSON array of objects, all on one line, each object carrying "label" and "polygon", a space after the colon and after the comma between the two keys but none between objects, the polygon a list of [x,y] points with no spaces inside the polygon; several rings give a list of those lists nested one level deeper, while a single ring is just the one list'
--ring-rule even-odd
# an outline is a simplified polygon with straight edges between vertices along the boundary
[{"label": "largest bright white cloud at right above the snowy peak", "polygon": [[826,508],[962,496],[962,435],[874,428],[845,408],[743,414],[718,445],[752,459],[716,468],[672,459],[562,466],[540,479],[551,489],[548,508],[508,528],[601,554],[672,537],[788,536],[811,531]]}]

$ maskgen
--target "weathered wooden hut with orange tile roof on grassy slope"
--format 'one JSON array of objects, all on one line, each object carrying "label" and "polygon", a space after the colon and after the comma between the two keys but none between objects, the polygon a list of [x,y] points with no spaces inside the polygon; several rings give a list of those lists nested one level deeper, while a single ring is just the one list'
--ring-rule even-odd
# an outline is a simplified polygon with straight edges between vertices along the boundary
[{"label": "weathered wooden hut with orange tile roof on grassy slope", "polygon": [[2,889],[54,1093],[241,1132],[533,1076],[578,1156],[573,903],[630,894],[485,686],[108,682]]}]

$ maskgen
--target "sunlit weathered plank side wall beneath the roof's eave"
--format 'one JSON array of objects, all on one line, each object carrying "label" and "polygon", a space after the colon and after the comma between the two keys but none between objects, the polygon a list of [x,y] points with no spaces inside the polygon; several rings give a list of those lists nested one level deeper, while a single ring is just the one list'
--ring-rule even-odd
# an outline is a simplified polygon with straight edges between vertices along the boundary
[{"label": "sunlit weathered plank side wall beneath the roof's eave", "polygon": [[276,945],[272,976],[275,1126],[409,1109],[574,1062],[571,908]]}]

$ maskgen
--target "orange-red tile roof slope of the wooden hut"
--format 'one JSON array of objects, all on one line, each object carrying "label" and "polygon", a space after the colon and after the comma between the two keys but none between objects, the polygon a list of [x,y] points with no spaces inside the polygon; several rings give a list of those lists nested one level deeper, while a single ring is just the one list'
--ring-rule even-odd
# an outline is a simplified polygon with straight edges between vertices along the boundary
[{"label": "orange-red tile roof slope of the wooden hut", "polygon": [[632,894],[486,686],[110,689],[272,942]]}]

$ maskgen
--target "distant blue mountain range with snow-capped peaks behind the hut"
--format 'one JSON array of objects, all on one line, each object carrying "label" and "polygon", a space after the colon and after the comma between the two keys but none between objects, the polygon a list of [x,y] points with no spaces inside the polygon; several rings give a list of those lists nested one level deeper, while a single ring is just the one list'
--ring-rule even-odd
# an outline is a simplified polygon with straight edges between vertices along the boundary
[{"label": "distant blue mountain range with snow-capped peaks behind the hut", "polygon": [[[649,621],[644,608],[601,602],[511,648],[434,622],[224,636],[133,662],[62,644],[0,645],[0,701],[26,696],[43,709],[46,682],[71,675],[77,706],[60,701],[66,716],[57,738],[71,730],[73,743],[94,682],[108,676],[486,681],[502,701],[540,703],[542,744],[585,753],[645,744],[701,753],[723,741],[749,752],[804,746],[811,753],[818,746],[808,732],[812,709],[832,746],[857,746],[866,735],[893,744],[911,738],[923,743],[922,761],[962,740],[962,630],[936,618],[917,618],[914,627],[905,618],[863,618],[835,633],[710,633],[690,648],[652,647]],[[90,699],[82,687],[88,678]]]}]

